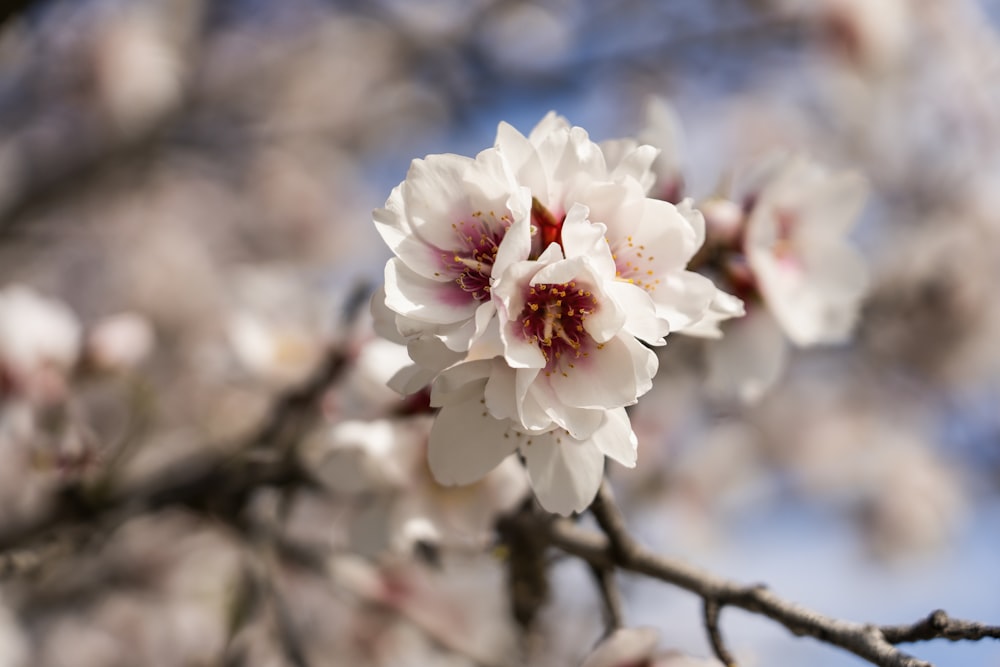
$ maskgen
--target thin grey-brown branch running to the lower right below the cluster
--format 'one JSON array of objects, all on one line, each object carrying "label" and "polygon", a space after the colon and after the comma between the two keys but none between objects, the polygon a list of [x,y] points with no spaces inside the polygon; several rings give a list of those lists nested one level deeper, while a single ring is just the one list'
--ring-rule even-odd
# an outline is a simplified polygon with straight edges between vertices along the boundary
[{"label": "thin grey-brown branch running to the lower right below the cluster", "polygon": [[976,641],[1000,638],[1000,627],[949,618],[942,611],[913,625],[879,626],[832,618],[785,600],[763,585],[743,585],[701,570],[683,561],[668,558],[639,545],[625,530],[621,513],[606,487],[592,507],[605,534],[580,528],[566,520],[540,522],[548,541],[556,548],[602,568],[621,568],[646,575],[694,593],[705,603],[705,619],[716,655],[727,665],[735,664],[726,650],[718,628],[724,607],[737,607],[766,616],[797,636],[814,637],[843,648],[880,667],[931,667],[931,663],[911,656],[896,644],[948,639]]}]

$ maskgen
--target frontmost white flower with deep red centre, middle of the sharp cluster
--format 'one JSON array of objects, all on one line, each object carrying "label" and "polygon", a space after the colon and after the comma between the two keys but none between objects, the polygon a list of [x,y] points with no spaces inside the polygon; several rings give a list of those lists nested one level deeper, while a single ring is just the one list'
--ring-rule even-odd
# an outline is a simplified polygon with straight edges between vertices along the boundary
[{"label": "frontmost white flower with deep red centre, middle of the sharp cluster", "polygon": [[[525,431],[558,426],[586,438],[605,410],[646,393],[656,373],[656,356],[630,333],[650,321],[651,304],[614,280],[605,227],[585,213],[578,206],[567,216],[562,247],[512,264],[496,284],[505,363],[494,365],[486,403]],[[638,299],[619,300],[634,293]]]}]

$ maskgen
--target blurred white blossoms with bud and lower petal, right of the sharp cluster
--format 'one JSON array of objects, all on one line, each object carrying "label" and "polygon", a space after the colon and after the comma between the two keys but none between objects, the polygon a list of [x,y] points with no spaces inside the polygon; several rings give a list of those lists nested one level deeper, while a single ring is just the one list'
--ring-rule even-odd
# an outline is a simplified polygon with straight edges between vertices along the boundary
[{"label": "blurred white blossoms with bud and lower petal, right of the sharp cluster", "polygon": [[748,316],[725,326],[706,361],[714,393],[755,401],[781,376],[789,343],[850,339],[869,280],[848,234],[867,186],[859,174],[831,173],[803,156],[769,157],[745,181],[742,219],[728,200],[704,205],[708,243],[722,258],[713,269],[752,297]]}]

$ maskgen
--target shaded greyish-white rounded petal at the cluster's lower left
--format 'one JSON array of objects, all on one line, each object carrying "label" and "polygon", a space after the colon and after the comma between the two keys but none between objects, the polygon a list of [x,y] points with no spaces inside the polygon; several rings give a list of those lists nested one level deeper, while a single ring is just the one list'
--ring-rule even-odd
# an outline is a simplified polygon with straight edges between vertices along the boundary
[{"label": "shaded greyish-white rounded petal at the cluster's lower left", "polygon": [[517,447],[509,422],[491,417],[480,396],[442,408],[434,420],[427,454],[431,473],[441,484],[482,479]]}]

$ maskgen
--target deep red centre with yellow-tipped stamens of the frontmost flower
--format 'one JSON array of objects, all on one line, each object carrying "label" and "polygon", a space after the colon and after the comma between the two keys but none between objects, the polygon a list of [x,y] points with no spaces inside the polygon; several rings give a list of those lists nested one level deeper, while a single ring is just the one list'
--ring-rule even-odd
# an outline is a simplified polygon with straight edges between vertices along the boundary
[{"label": "deep red centre with yellow-tipped stamens of the frontmost flower", "polygon": [[538,345],[551,369],[564,355],[589,356],[593,339],[583,323],[596,309],[593,293],[575,282],[534,285],[521,311],[521,330],[525,340]]}]

